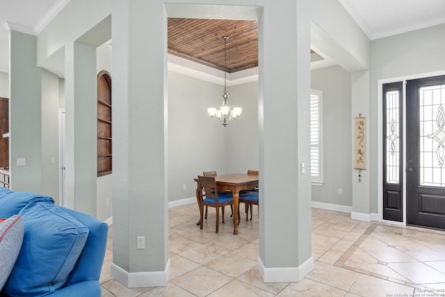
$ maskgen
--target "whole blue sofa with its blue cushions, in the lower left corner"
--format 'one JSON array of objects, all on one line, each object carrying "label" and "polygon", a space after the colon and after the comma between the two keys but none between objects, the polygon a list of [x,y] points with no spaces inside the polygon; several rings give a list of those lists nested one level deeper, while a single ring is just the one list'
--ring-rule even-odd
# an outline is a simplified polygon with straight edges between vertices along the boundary
[{"label": "whole blue sofa with its blue cushions, in the lower left corner", "polygon": [[[0,296],[101,296],[106,223],[46,195],[0,188],[0,218],[12,217],[23,221],[23,240]],[[0,234],[0,254],[1,244]]]}]

